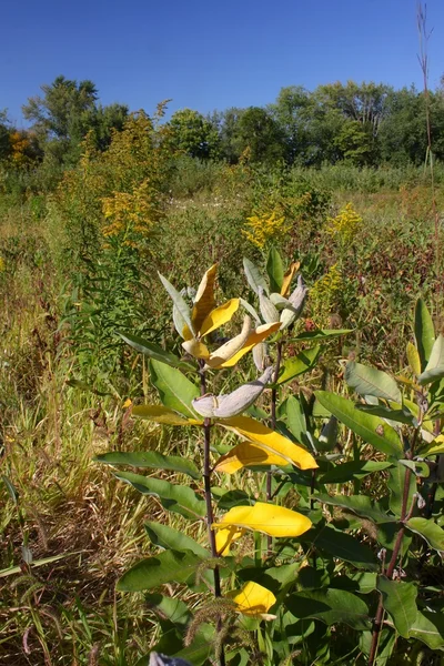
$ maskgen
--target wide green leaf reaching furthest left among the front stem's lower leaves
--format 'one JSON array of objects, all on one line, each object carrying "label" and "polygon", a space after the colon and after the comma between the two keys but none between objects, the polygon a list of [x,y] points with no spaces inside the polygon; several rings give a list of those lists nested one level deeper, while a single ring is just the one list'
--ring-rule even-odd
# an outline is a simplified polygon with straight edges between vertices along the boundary
[{"label": "wide green leaf reaching furthest left among the front stem's lower leaves", "polygon": [[165,583],[193,585],[202,557],[191,551],[164,551],[154,557],[142,559],[118,581],[119,592],[142,592]]}]

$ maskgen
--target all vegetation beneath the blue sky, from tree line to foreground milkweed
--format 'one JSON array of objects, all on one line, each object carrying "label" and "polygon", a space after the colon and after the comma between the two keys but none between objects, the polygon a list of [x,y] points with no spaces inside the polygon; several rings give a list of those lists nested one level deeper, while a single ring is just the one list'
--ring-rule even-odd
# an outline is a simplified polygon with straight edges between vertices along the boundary
[{"label": "all vegetation beneath the blue sky, from tree line to foreground milkweed", "polygon": [[43,92],[0,117],[1,663],[442,664],[442,91],[433,155],[413,89]]}]

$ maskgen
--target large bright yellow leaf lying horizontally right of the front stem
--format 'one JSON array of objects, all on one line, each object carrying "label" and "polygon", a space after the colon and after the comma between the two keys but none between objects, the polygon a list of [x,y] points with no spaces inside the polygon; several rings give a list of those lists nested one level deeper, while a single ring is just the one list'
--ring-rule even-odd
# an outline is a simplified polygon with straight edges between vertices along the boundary
[{"label": "large bright yellow leaf lying horizontally right of the front stem", "polygon": [[312,526],[306,516],[265,502],[256,502],[254,506],[234,506],[212,528],[226,529],[235,526],[244,529],[262,532],[269,536],[301,536]]}]

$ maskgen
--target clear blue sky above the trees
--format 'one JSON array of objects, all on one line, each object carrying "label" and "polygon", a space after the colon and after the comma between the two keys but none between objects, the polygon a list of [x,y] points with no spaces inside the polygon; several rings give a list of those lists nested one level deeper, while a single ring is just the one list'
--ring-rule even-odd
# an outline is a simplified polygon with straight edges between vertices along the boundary
[{"label": "clear blue sky above the trees", "polygon": [[[21,0],[1,10],[0,109],[58,74],[100,100],[170,112],[263,105],[284,85],[422,84],[415,0]],[[444,2],[428,0],[430,85],[444,72]]]}]

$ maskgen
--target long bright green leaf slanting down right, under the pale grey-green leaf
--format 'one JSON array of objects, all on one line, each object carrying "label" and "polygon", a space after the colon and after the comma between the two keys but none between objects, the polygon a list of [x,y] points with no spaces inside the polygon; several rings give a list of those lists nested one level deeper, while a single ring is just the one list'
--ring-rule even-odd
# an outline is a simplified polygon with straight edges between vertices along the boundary
[{"label": "long bright green leaf slanting down right, under the pale grey-green leaf", "polygon": [[396,431],[379,416],[361,412],[350,400],[329,391],[316,391],[315,396],[339,421],[362,437],[364,442],[372,444],[377,451],[396,458],[404,455]]}]

